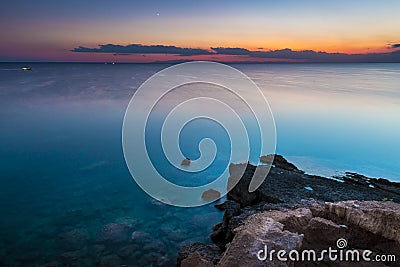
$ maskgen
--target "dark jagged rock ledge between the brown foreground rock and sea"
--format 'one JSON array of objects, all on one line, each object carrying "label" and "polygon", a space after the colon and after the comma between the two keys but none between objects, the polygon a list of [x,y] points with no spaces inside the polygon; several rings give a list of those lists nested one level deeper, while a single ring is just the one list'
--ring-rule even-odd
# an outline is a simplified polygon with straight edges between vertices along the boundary
[{"label": "dark jagged rock ledge between the brown foreground rock and sea", "polygon": [[[319,202],[353,199],[400,201],[400,184],[398,183],[368,177],[361,178],[361,175],[355,174],[352,174],[352,177],[357,177],[358,180],[348,179],[347,182],[342,183],[334,179],[305,174],[297,167],[290,167],[292,164],[286,163],[287,161],[282,156],[276,155],[275,159],[279,159],[277,162],[281,164],[276,164],[271,169],[266,165],[231,164],[228,180],[228,188],[231,190],[227,194],[228,199],[239,203],[241,207],[257,205],[260,202],[295,205],[310,198]],[[245,169],[244,173],[243,169]],[[267,176],[262,177],[266,173],[268,173]],[[261,176],[257,179],[264,179],[264,182],[254,192],[249,192],[249,185],[254,175]],[[373,187],[362,185],[363,183],[360,182],[362,179]],[[313,190],[306,190],[305,188],[308,187]]]}]

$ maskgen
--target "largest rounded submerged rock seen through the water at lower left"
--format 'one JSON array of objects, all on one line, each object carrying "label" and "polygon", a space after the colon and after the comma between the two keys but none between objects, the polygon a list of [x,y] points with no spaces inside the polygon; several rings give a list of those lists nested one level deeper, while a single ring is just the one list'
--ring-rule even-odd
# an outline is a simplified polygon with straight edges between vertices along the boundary
[{"label": "largest rounded submerged rock seen through the water at lower left", "polygon": [[104,225],[97,234],[100,243],[120,243],[129,240],[132,228],[123,223]]}]

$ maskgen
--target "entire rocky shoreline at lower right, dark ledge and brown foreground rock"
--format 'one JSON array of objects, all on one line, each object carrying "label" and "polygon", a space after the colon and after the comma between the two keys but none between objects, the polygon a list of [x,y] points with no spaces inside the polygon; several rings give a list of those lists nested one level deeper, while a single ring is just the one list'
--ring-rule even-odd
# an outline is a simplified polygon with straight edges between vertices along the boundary
[{"label": "entire rocky shoreline at lower right, dark ledge and brown foreground rock", "polygon": [[[232,164],[230,179],[237,179],[232,174],[243,167]],[[185,245],[178,266],[399,266],[399,183],[350,172],[334,179],[308,175],[275,155],[267,178],[249,193],[256,166],[245,168],[227,201],[216,205],[225,213],[213,227],[214,244]],[[339,239],[347,242],[347,249],[371,250],[371,257],[394,255],[397,261],[344,262],[326,256],[318,261],[260,261],[256,256],[264,246],[318,252],[336,248]]]}]

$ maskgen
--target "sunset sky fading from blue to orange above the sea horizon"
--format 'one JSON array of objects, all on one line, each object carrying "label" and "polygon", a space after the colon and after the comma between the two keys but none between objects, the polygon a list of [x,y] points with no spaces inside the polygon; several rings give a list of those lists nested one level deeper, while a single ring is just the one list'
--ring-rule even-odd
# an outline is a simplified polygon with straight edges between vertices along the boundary
[{"label": "sunset sky fading from blue to orange above the sea horizon", "polygon": [[3,0],[0,61],[400,62],[398,14],[397,0]]}]

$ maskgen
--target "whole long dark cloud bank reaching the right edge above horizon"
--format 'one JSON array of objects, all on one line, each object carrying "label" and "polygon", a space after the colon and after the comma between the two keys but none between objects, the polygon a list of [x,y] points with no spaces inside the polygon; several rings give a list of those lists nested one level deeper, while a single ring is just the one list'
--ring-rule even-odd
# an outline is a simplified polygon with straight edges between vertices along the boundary
[{"label": "whole long dark cloud bank reaching the right edge above horizon", "polygon": [[[400,44],[391,44],[392,48],[400,48]],[[296,51],[290,48],[278,50],[248,50],[242,47],[211,47],[209,50],[200,48],[186,48],[177,46],[166,45],[115,45],[105,44],[99,45],[97,48],[88,48],[79,46],[73,48],[71,51],[79,53],[112,53],[118,55],[131,55],[131,54],[169,54],[183,56],[176,60],[193,60],[193,56],[202,56],[202,60],[214,60],[213,57],[209,59],[204,56],[226,56],[226,57],[240,57],[240,61],[248,59],[248,61],[296,61],[296,62],[399,62],[400,63],[400,50],[387,53],[366,53],[366,54],[346,54],[346,53],[328,53],[317,52],[314,50],[301,50]],[[238,58],[239,59],[239,58]],[[218,59],[217,59],[218,60]]]}]

